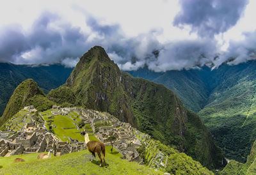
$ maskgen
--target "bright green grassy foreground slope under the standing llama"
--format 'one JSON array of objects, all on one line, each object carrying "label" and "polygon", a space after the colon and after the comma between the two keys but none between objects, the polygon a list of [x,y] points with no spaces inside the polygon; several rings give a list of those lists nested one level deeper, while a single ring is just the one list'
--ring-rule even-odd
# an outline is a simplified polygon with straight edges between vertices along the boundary
[{"label": "bright green grassy foreground slope under the standing llama", "polygon": [[[71,153],[45,160],[37,160],[38,154],[10,156],[0,158],[1,174],[163,174],[135,162],[128,162],[119,158],[120,155],[106,150],[108,168],[99,167],[99,162],[90,162],[87,150]],[[16,158],[23,158],[26,162],[12,163]],[[99,160],[99,158],[98,158]]]}]

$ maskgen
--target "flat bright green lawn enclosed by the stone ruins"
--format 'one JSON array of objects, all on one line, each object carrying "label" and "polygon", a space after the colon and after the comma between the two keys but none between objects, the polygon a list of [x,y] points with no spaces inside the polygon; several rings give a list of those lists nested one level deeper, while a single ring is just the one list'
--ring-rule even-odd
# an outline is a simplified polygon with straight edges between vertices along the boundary
[{"label": "flat bright green lawn enclosed by the stone ruins", "polygon": [[[77,130],[76,128],[76,122],[74,120],[70,119],[68,116],[52,116],[51,112],[49,110],[42,112],[44,114],[43,118],[48,123],[49,121],[52,121],[51,125],[55,125],[55,127],[52,127],[55,134],[61,141],[69,141],[68,137],[71,137],[72,139],[77,139],[79,141],[84,141],[84,137],[80,135],[80,130]],[[52,117],[52,118],[51,118]],[[49,125],[46,125],[47,129],[49,130]],[[68,128],[68,129],[64,129]]]}]

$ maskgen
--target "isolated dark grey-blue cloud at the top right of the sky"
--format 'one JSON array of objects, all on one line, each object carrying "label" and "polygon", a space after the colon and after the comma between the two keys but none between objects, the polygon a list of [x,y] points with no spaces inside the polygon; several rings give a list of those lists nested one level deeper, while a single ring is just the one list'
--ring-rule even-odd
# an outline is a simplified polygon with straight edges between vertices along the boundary
[{"label": "isolated dark grey-blue cloud at the top right of the sky", "polygon": [[200,36],[224,33],[235,26],[248,0],[180,0],[181,10],[173,24],[191,30]]}]

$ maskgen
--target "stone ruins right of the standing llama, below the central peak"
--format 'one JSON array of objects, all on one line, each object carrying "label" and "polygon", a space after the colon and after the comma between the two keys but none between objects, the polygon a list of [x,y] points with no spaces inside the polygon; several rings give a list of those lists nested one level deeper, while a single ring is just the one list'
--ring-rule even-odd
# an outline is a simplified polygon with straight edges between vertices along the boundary
[{"label": "stone ruins right of the standing llama, below the central peak", "polygon": [[[114,135],[116,141],[113,148],[116,149],[126,160],[142,163],[142,159],[137,152],[141,142],[134,135],[134,128],[129,123],[122,123],[108,113],[102,114],[95,110],[79,111],[83,114],[86,121],[90,121],[95,136],[106,146],[111,143],[107,141],[108,137]],[[95,132],[97,128],[97,132]]]}]

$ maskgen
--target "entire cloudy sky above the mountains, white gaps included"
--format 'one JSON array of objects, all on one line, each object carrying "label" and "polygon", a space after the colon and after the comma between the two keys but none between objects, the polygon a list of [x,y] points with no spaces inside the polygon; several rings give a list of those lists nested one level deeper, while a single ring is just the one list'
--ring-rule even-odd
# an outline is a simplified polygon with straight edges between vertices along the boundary
[{"label": "entire cloudy sky above the mountains, white gaps included", "polygon": [[253,0],[0,0],[0,61],[76,66],[94,45],[122,70],[256,59]]}]

